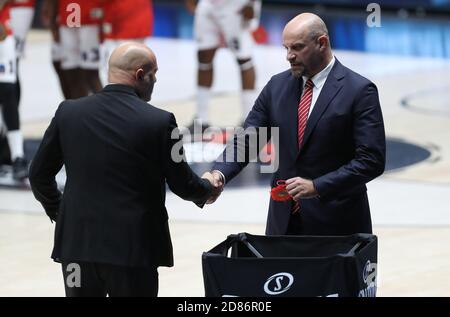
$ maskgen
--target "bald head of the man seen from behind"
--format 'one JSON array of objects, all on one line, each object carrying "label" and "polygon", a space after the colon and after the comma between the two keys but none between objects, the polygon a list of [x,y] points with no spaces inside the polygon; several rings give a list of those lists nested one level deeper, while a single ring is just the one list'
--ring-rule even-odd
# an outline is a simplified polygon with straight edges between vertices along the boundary
[{"label": "bald head of the man seen from behind", "polygon": [[[108,80],[110,83],[132,86],[142,99],[150,100],[157,70],[153,51],[144,44],[129,42],[120,45],[111,54]],[[148,89],[151,89],[150,96]]]}]

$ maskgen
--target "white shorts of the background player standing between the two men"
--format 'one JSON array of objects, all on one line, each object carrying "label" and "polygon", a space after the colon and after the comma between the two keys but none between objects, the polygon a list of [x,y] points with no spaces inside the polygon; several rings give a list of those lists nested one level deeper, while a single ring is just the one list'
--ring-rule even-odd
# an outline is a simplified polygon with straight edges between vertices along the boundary
[{"label": "white shorts of the background player standing between the two men", "polygon": [[200,2],[194,19],[194,34],[199,50],[218,48],[222,41],[238,59],[252,56],[254,40],[250,25],[239,13],[242,4],[233,1],[222,6]]}]

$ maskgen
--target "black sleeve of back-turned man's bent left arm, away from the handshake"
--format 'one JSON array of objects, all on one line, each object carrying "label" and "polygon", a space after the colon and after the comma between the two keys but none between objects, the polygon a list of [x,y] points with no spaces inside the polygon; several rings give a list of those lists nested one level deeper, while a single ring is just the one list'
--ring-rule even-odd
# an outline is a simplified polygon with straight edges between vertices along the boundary
[{"label": "black sleeve of back-turned man's bent left arm, away from the handshake", "polygon": [[56,183],[56,174],[63,166],[57,123],[59,109],[47,128],[30,167],[30,184],[34,197],[42,204],[52,221],[56,221],[62,198]]}]

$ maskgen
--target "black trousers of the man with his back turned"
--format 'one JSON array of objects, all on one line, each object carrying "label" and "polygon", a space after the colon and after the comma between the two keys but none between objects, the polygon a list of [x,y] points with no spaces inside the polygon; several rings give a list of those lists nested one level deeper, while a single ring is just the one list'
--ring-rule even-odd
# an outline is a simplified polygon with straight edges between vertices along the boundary
[{"label": "black trousers of the man with his back turned", "polygon": [[67,297],[157,297],[157,268],[62,263]]}]

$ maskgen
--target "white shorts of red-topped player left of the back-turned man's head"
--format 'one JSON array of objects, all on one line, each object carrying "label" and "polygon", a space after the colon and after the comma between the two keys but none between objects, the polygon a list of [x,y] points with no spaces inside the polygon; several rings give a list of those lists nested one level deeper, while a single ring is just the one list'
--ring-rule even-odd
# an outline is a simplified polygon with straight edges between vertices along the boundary
[{"label": "white shorts of red-topped player left of the back-turned man's head", "polygon": [[61,68],[64,70],[75,68],[98,69],[100,61],[99,31],[98,25],[84,25],[74,28],[60,27]]}]

